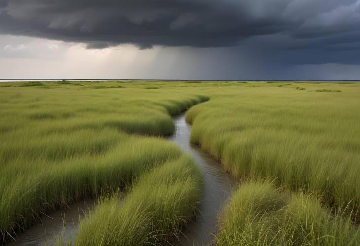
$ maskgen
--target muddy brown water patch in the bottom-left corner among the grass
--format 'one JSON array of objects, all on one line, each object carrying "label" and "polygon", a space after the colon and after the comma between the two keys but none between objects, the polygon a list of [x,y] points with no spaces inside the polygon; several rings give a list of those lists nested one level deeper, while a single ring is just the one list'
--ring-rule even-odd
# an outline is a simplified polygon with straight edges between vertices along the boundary
[{"label": "muddy brown water patch in the bottom-left corner among the grass", "polygon": [[69,208],[55,211],[50,215],[43,215],[41,223],[18,234],[15,241],[8,246],[53,245],[55,238],[60,234],[63,235],[65,242],[68,239],[73,242],[80,219],[84,216],[84,212],[92,209],[93,206],[93,200],[89,199],[73,203]]}]

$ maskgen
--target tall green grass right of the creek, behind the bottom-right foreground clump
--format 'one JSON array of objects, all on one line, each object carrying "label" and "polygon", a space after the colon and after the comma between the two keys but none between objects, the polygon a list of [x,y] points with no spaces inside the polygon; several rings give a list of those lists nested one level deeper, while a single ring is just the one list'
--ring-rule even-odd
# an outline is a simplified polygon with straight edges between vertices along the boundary
[{"label": "tall green grass right of the creek, behind the bottom-right foreground clump", "polygon": [[342,93],[257,84],[215,94],[192,107],[191,141],[239,178],[275,180],[318,194],[328,208],[360,221],[360,86],[325,85]]}]

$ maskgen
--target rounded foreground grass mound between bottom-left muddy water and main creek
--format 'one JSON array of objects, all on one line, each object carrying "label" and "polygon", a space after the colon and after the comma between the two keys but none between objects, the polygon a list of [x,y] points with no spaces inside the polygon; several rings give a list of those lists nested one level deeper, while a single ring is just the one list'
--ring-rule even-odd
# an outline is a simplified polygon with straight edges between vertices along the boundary
[{"label": "rounded foreground grass mound between bottom-left muddy water and main creek", "polygon": [[167,162],[140,176],[123,202],[116,197],[100,202],[81,222],[75,245],[173,244],[200,197],[201,175],[192,159]]}]

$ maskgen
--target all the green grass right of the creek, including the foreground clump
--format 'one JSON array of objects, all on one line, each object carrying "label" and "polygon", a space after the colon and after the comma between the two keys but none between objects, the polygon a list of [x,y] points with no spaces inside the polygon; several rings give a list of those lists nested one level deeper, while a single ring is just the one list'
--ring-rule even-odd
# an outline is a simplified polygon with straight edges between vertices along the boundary
[{"label": "all the green grass right of the creek, including the foreground clump", "polygon": [[191,141],[240,180],[271,180],[292,193],[269,213],[267,201],[243,203],[266,197],[266,187],[240,187],[218,244],[359,245],[360,84],[231,87],[187,112]]}]

